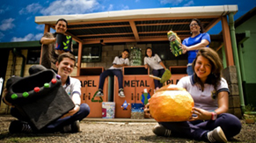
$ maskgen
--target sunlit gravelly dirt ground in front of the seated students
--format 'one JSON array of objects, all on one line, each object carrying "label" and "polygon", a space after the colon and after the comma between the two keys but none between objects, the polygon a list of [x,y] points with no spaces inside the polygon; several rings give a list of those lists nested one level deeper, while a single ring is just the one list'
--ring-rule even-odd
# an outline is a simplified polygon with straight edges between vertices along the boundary
[{"label": "sunlit gravelly dirt ground in front of the seated students", "polygon": [[[11,116],[0,115],[0,143],[27,142],[27,143],[141,143],[141,142],[186,142],[202,143],[193,139],[179,139],[174,137],[158,137],[152,132],[157,122],[99,122],[83,120],[80,123],[82,132],[77,133],[46,133],[46,134],[10,134],[8,127]],[[256,142],[256,124],[245,124],[242,131],[230,142]]]}]

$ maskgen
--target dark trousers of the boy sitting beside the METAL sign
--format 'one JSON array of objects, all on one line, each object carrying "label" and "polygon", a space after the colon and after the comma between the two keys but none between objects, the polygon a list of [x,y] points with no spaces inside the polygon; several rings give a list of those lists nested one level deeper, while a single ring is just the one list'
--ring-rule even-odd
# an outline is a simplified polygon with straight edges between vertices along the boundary
[{"label": "dark trousers of the boy sitting beside the METAL sign", "polygon": [[103,89],[105,79],[109,75],[111,75],[111,76],[116,75],[118,78],[119,89],[123,89],[121,69],[107,69],[103,73],[101,73],[99,76],[99,89]]}]

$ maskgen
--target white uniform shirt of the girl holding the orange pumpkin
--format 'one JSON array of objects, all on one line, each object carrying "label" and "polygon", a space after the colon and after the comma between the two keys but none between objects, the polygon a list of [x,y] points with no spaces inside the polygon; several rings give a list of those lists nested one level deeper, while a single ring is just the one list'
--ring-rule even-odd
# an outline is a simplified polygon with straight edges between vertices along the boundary
[{"label": "white uniform shirt of the girl holding the orange pumpkin", "polygon": [[214,85],[205,83],[204,90],[202,91],[201,86],[194,82],[194,75],[182,77],[177,85],[187,89],[187,92],[194,99],[194,107],[206,111],[215,111],[218,108],[217,95],[219,92],[227,91],[230,94],[228,83],[223,78],[216,90],[214,89]]}]

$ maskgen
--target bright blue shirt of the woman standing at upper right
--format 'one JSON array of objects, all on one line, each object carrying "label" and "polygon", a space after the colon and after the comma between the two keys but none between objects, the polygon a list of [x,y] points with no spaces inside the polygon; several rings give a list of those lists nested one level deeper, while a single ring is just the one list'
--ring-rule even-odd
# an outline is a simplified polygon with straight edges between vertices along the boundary
[{"label": "bright blue shirt of the woman standing at upper right", "polygon": [[[204,33],[200,33],[198,35],[196,35],[194,38],[189,37],[187,39],[184,39],[182,41],[182,44],[185,46],[194,46],[198,43],[201,43],[202,39],[207,39],[208,42],[210,43],[210,36],[207,32]],[[187,51],[187,61],[188,63],[192,63],[196,57],[198,50],[192,50],[192,51]]]}]

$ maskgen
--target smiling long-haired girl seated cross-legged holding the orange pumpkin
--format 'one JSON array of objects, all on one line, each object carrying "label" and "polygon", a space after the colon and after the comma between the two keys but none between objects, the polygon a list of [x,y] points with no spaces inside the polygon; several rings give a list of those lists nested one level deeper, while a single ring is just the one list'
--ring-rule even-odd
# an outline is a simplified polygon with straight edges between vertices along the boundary
[{"label": "smiling long-haired girl seated cross-legged holding the orange pumpkin", "polygon": [[[193,97],[193,116],[184,122],[159,122],[153,132],[159,136],[172,134],[207,142],[228,142],[227,139],[241,131],[241,123],[236,116],[228,113],[230,91],[221,76],[222,61],[216,51],[202,47],[192,68],[194,74],[182,77],[177,85],[187,89]],[[150,104],[147,104],[144,110],[148,116],[149,107]]]}]

